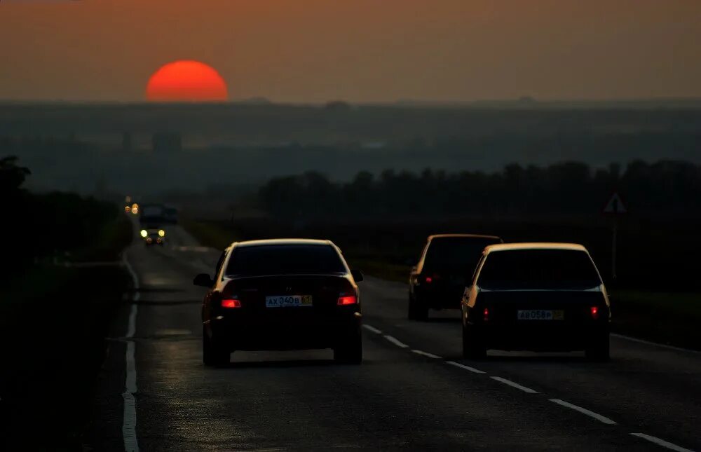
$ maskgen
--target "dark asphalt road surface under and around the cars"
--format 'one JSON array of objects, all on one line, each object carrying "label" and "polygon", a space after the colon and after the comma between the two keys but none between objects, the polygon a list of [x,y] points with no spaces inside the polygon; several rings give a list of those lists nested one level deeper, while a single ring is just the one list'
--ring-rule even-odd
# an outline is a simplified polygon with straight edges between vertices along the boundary
[{"label": "dark asphalt road surface under and around the cars", "polygon": [[180,228],[168,238],[126,253],[138,289],[100,375],[95,450],[701,450],[701,354],[615,337],[608,363],[526,352],[470,362],[457,311],[410,322],[407,288],[376,278],[360,283],[361,366],[313,350],[203,367],[203,290],[191,280],[219,253]]}]

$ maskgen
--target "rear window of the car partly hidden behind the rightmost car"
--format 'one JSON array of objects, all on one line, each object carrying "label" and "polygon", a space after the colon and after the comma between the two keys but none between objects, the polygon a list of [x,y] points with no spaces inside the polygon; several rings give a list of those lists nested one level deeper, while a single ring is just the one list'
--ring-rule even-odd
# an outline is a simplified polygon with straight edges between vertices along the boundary
[{"label": "rear window of the car partly hidden behind the rightmost car", "polygon": [[431,240],[423,271],[472,275],[487,245],[501,243],[494,238],[436,238]]}]

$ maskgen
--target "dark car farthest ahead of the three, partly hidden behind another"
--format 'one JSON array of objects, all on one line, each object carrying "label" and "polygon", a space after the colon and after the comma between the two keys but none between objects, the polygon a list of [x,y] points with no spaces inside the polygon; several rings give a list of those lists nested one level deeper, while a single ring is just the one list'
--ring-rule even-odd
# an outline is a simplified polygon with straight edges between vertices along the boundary
[{"label": "dark car farthest ahead of the three, partly hidden behind another", "polygon": [[409,320],[426,320],[429,309],[458,309],[465,282],[472,278],[487,245],[503,243],[496,235],[430,235],[409,274]]}]

